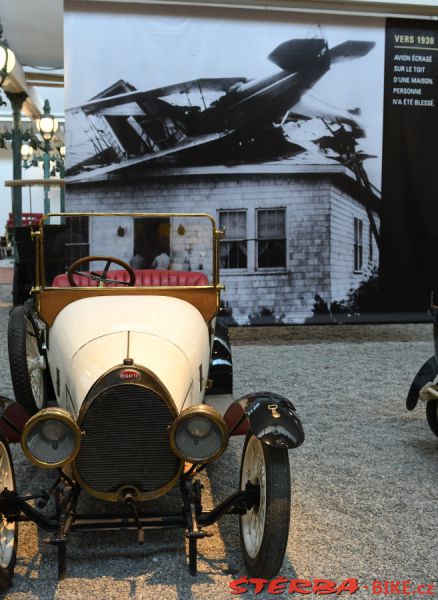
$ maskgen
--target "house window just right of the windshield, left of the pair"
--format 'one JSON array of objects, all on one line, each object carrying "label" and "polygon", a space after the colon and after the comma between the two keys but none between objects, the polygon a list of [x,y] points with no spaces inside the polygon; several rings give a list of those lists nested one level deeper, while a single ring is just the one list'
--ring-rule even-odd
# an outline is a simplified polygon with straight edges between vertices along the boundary
[{"label": "house window just right of the windshield, left of the pair", "polygon": [[222,269],[247,268],[246,211],[222,210],[219,226],[225,228],[225,239],[220,244]]}]

